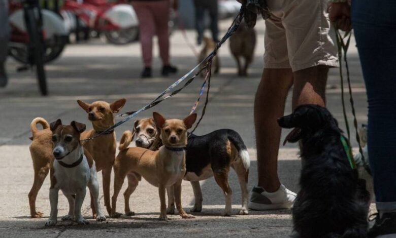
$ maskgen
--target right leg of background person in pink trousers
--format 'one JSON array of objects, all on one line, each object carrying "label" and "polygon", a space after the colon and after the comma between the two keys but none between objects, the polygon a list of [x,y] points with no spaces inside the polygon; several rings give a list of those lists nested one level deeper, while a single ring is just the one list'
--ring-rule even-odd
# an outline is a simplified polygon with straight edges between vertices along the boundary
[{"label": "right leg of background person in pink trousers", "polygon": [[162,75],[176,73],[177,68],[171,66],[169,62],[169,0],[155,1],[151,4],[151,11],[154,15],[155,29],[158,36],[159,56],[162,59]]}]

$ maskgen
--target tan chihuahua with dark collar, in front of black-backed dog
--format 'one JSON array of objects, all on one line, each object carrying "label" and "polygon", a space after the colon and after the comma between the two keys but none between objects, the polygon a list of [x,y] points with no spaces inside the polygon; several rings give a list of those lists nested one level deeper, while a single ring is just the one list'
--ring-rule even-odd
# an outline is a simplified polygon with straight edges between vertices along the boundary
[{"label": "tan chihuahua with dark collar, in front of black-backed dog", "polygon": [[130,147],[122,149],[118,153],[114,161],[112,217],[119,215],[116,213],[117,196],[127,176],[128,188],[124,193],[125,213],[127,215],[133,214],[129,209],[129,196],[135,191],[139,180],[143,177],[150,184],[158,187],[161,203],[160,220],[168,219],[165,193],[166,189],[170,191],[170,187],[174,188],[174,198],[180,216],[182,218],[193,218],[193,216],[187,215],[182,208],[181,182],[186,173],[184,147],[187,145],[187,129],[190,129],[194,124],[196,114],[193,113],[184,118],[184,120],[166,120],[161,114],[154,112],[153,118],[156,127],[161,131],[160,136],[163,146],[157,151],[141,147]]}]

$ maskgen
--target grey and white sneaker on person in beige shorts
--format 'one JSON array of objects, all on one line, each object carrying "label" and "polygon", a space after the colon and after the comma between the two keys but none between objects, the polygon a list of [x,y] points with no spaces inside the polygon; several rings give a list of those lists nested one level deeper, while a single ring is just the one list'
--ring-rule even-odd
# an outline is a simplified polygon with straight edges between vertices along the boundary
[{"label": "grey and white sneaker on person in beige shorts", "polygon": [[254,186],[248,207],[259,211],[289,209],[293,206],[296,195],[282,184],[275,192],[267,192],[262,187]]}]

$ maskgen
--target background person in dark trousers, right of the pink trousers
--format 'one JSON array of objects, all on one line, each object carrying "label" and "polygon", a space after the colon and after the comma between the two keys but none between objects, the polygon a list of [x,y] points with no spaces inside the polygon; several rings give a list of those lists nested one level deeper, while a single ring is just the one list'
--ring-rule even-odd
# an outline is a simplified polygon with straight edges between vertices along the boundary
[{"label": "background person in dark trousers, right of the pink trousers", "polygon": [[217,0],[194,0],[195,6],[195,28],[197,32],[196,43],[202,44],[205,31],[205,12],[209,13],[210,29],[212,31],[212,38],[214,42],[219,42],[218,39],[218,2]]}]

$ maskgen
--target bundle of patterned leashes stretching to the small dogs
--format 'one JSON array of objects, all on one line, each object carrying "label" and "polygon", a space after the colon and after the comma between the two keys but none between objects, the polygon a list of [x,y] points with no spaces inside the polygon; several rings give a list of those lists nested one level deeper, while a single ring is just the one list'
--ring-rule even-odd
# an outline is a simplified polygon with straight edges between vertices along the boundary
[{"label": "bundle of patterned leashes stretching to the small dogs", "polygon": [[[169,86],[167,89],[165,89],[162,93],[160,93],[154,100],[152,100],[150,103],[148,103],[146,106],[140,108],[137,111],[128,111],[128,112],[124,112],[121,113],[119,115],[116,115],[115,117],[124,117],[126,116],[123,120],[115,123],[113,126],[109,127],[108,129],[104,130],[102,133],[100,134],[96,134],[92,137],[86,138],[84,140],[81,140],[83,142],[87,142],[90,141],[98,136],[101,136],[102,134],[108,133],[109,131],[113,130],[114,128],[120,126],[121,124],[124,124],[125,122],[129,121],[131,118],[135,117],[137,114],[139,114],[140,112],[150,109],[154,106],[156,106],[157,104],[161,103],[162,101],[169,99],[173,96],[175,96],[176,94],[178,94],[180,91],[182,91],[185,87],[187,87],[195,78],[197,75],[199,75],[203,70],[208,70],[209,73],[207,72],[208,75],[208,92],[207,92],[207,97],[206,97],[206,102],[205,102],[205,106],[203,109],[203,114],[205,114],[205,109],[206,106],[208,104],[208,96],[209,96],[209,82],[210,82],[210,68],[212,66],[212,60],[213,57],[216,56],[218,49],[222,46],[222,44],[238,29],[241,20],[244,16],[244,8],[241,7],[238,15],[235,17],[233,23],[231,24],[231,26],[228,28],[227,32],[225,33],[225,35],[221,38],[221,41],[217,43],[215,49],[204,59],[202,60],[199,64],[197,64],[194,68],[192,68],[189,72],[187,72],[184,76],[182,76],[181,78],[179,78],[179,80],[177,80],[175,83],[173,83],[171,86]],[[197,70],[201,65],[204,65],[204,67],[202,67],[201,69],[199,69],[180,89],[174,90],[175,87],[177,87],[180,83],[182,83],[183,81],[185,81],[187,79],[187,77],[192,74],[195,70]],[[205,84],[203,84],[203,87],[205,87]],[[201,87],[201,89],[203,88]],[[174,90],[174,91],[173,91]],[[201,90],[200,90],[201,92]],[[168,94],[168,95],[167,95]],[[167,95],[167,96],[165,96]],[[202,94],[201,94],[202,95]],[[165,97],[164,97],[165,96]],[[199,101],[199,100],[198,100]],[[196,107],[195,107],[196,108]],[[194,109],[195,110],[195,109]],[[199,120],[199,122],[197,124],[199,124],[203,118],[203,114],[201,115],[201,118]],[[196,126],[195,126],[196,128]],[[195,130],[194,128],[194,130]]]}]

